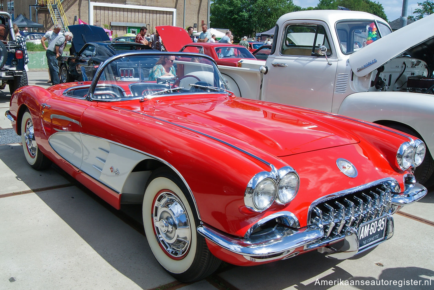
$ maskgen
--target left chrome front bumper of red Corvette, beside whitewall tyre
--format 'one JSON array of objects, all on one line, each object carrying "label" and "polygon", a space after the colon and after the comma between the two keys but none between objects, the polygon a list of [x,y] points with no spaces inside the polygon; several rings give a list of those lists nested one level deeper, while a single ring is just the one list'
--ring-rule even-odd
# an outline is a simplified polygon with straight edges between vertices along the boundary
[{"label": "left chrome front bumper of red Corvette, beside whitewall tyre", "polygon": [[317,228],[286,228],[277,226],[268,233],[236,238],[200,225],[197,231],[205,238],[233,253],[243,255],[250,261],[272,261],[288,257],[296,248],[310,244],[324,235]]}]

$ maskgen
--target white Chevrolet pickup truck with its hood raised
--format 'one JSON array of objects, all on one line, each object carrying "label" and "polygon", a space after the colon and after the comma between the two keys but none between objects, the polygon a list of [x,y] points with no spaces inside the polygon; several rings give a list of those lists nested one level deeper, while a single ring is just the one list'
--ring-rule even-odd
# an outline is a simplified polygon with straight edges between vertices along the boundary
[{"label": "white Chevrolet pickup truck with its hood raised", "polygon": [[[266,65],[219,66],[243,98],[314,108],[395,128],[427,145],[418,182],[434,183],[434,15],[391,32],[375,15],[288,13]],[[367,44],[365,44],[367,43]]]}]

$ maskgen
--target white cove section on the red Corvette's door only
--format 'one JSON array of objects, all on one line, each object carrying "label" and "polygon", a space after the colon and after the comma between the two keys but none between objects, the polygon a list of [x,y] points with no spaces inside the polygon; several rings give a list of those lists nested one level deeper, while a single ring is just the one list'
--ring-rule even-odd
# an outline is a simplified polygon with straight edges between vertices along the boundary
[{"label": "white cove section on the red Corvette's door only", "polygon": [[49,137],[48,143],[63,159],[80,168],[82,163],[80,137],[77,132],[59,132]]}]

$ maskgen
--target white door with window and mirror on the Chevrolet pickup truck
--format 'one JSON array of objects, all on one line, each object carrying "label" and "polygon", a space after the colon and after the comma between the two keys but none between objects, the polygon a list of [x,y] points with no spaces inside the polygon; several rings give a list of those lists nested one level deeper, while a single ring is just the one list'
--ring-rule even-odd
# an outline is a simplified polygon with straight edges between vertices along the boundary
[{"label": "white door with window and mirror on the Chevrolet pickup truck", "polygon": [[[263,81],[267,101],[331,111],[337,56],[329,28],[322,21],[293,20],[281,30],[276,52],[266,60]],[[328,61],[317,53],[327,48]]]}]

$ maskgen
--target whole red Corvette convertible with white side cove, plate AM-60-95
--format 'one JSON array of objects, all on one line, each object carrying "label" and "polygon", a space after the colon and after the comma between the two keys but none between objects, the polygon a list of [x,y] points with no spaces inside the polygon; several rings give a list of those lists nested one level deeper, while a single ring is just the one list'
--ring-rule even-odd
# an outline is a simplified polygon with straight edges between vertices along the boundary
[{"label": "whole red Corvette convertible with white side cove, plate AM-60-95", "polygon": [[114,55],[92,81],[19,88],[6,116],[34,169],[53,162],[116,209],[141,204],[152,253],[181,281],[221,260],[352,257],[427,192],[412,174],[421,140],[238,98],[206,55]]}]

